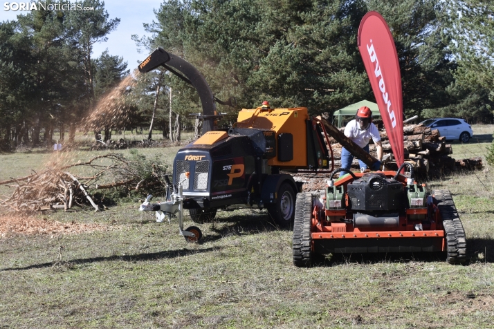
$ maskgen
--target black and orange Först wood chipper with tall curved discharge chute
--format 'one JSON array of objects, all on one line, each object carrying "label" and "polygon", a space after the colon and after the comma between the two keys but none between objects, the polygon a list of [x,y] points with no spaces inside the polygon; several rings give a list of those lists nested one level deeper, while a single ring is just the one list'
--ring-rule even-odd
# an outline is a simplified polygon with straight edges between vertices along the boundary
[{"label": "black and orange F\u00f6rst wood chipper with tall curved discharge chute", "polygon": [[[165,66],[197,89],[204,122],[217,120],[215,98],[194,66],[158,48],[139,69],[148,72],[158,66]],[[218,209],[266,208],[276,223],[289,225],[301,184],[281,171],[329,169],[330,164],[333,170],[333,157],[322,139],[324,126],[309,117],[307,108],[271,109],[263,104],[239,111],[230,129],[212,127],[203,124],[201,138],[176,154],[167,200],[151,204],[148,197],[140,207],[156,211],[158,220],[178,213],[180,232],[187,241],[196,241],[201,231],[197,227],[183,229],[184,209],[194,222],[203,223],[212,220]]]}]

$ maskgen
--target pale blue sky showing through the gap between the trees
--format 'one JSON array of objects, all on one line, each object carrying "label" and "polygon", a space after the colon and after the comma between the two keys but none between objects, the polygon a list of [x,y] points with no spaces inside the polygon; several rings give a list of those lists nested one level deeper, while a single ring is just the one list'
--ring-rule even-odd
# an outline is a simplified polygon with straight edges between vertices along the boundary
[{"label": "pale blue sky showing through the gap between the trees", "polygon": [[[18,1],[28,2],[29,0]],[[99,57],[101,53],[108,48],[110,55],[118,55],[123,57],[127,62],[127,68],[133,71],[137,68],[138,63],[142,62],[147,55],[147,50],[143,53],[137,52],[137,46],[131,39],[131,35],[143,36],[146,34],[143,23],[152,23],[156,21],[156,16],[153,10],[159,9],[161,3],[164,0],[139,0],[139,1],[125,1],[125,0],[105,0],[104,8],[110,15],[110,19],[120,18],[120,24],[107,35],[108,40],[106,42],[98,43],[94,45],[93,58]],[[8,1],[0,1],[0,21],[7,21],[17,19],[17,15],[20,13],[25,15],[26,11],[12,11],[5,10],[5,3]],[[10,1],[13,3],[14,1]],[[71,1],[73,2],[73,1]]]}]

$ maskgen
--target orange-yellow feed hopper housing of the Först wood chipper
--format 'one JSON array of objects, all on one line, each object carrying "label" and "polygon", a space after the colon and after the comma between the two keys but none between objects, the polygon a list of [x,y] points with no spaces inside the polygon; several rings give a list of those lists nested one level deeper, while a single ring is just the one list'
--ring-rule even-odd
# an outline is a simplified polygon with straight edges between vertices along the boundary
[{"label": "orange-yellow feed hopper housing of the F\u00f6rst wood chipper", "polygon": [[[305,167],[307,166],[307,129],[306,120],[309,120],[307,108],[295,109],[242,109],[237,119],[237,128],[267,129],[275,131],[276,137],[280,133],[293,135],[293,160],[279,161],[277,157],[268,160],[270,166]],[[278,140],[276,138],[276,147]]]}]

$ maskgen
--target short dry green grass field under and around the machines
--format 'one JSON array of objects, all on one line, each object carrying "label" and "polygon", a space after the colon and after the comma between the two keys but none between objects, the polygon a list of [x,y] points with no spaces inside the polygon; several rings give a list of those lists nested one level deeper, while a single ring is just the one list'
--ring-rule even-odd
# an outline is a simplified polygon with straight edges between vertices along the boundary
[{"label": "short dry green grass field under and around the machines", "polygon": [[[484,157],[489,144],[488,137],[454,142],[452,156]],[[171,163],[177,149],[142,151],[165,152]],[[0,156],[0,180],[42,168],[46,155],[30,155]],[[3,161],[16,167],[8,175]],[[427,182],[452,191],[468,239],[466,266],[435,254],[356,254],[300,269],[291,231],[258,210],[220,212],[199,225],[199,245],[185,243],[176,221],[155,223],[137,203],[40,215],[109,230],[0,239],[0,328],[492,328],[494,190],[493,168],[486,169]]]}]

